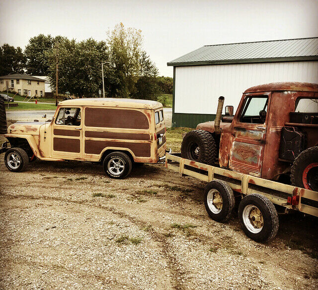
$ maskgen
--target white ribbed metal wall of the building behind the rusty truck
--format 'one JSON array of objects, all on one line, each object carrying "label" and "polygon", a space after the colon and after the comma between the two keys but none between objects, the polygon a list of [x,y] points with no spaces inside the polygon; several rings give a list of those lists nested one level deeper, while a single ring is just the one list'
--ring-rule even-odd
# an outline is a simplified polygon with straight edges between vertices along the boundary
[{"label": "white ribbed metal wall of the building behind the rusty truck", "polygon": [[282,81],[318,83],[318,61],[176,67],[174,112],[216,114],[220,96],[236,111],[247,88]]}]

